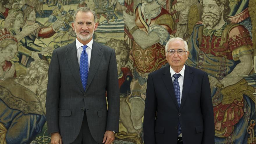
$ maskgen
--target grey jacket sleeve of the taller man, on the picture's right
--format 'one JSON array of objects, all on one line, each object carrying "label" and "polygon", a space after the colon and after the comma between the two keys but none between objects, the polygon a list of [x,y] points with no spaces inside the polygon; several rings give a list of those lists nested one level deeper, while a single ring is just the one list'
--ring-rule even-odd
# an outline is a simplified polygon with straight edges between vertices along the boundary
[{"label": "grey jacket sleeve of the taller man, on the picture's right", "polygon": [[115,51],[112,49],[107,72],[108,117],[106,130],[119,131],[120,97]]}]

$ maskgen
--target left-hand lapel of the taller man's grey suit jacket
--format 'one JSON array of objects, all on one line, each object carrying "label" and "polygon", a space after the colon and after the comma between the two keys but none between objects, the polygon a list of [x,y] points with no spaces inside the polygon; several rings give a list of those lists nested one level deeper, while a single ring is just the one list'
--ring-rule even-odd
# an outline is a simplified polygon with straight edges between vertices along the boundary
[{"label": "left-hand lapel of the taller man's grey suit jacket", "polygon": [[79,72],[79,64],[77,60],[77,49],[76,49],[76,41],[74,41],[71,45],[67,46],[67,52],[65,53],[67,58],[68,66],[74,76],[74,79],[77,81],[77,84],[80,90],[83,92],[83,85],[80,78]]}]

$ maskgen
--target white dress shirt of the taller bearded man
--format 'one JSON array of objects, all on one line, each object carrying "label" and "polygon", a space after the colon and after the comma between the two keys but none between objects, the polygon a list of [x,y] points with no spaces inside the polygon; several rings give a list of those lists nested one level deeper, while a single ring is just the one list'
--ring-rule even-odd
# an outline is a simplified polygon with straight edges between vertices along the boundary
[{"label": "white dress shirt of the taller bearded man", "polygon": [[[76,45],[77,45],[77,59],[78,59],[78,65],[80,67],[80,57],[83,51],[83,44],[76,40]],[[90,61],[91,61],[91,56],[92,56],[92,48],[93,48],[93,39],[86,44],[88,47],[85,49],[86,53],[88,54],[88,71],[90,69]]]}]

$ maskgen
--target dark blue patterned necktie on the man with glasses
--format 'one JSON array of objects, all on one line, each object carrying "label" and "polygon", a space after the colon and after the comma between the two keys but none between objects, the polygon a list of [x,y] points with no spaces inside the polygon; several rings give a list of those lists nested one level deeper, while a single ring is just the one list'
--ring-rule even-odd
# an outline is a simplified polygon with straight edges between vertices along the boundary
[{"label": "dark blue patterned necktie on the man with glasses", "polygon": [[[178,78],[180,77],[180,74],[173,74],[173,77],[175,78],[173,81],[173,86],[174,86],[174,92],[175,96],[178,102],[178,107],[180,107],[180,88],[179,88],[179,81]],[[180,122],[178,123],[178,136],[181,134],[181,126]]]}]

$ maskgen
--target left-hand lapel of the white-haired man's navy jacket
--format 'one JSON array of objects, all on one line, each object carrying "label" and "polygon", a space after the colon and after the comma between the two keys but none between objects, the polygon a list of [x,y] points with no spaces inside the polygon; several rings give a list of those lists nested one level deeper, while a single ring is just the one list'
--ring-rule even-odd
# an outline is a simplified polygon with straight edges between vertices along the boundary
[{"label": "left-hand lapel of the white-haired man's navy jacket", "polygon": [[171,77],[171,73],[170,73],[170,67],[168,67],[168,66],[165,67],[165,70],[162,75],[162,79],[163,79],[163,82],[166,86],[166,89],[167,89],[170,97],[173,99],[173,102],[175,103],[175,105],[178,109],[178,103],[177,103],[177,99],[176,99],[175,93],[174,93],[174,87],[173,87],[172,77]]}]

